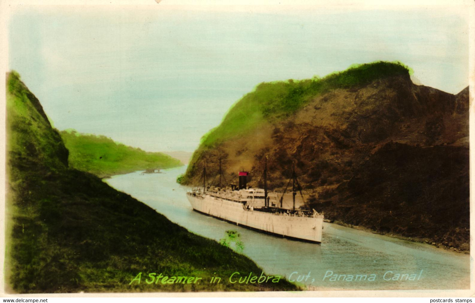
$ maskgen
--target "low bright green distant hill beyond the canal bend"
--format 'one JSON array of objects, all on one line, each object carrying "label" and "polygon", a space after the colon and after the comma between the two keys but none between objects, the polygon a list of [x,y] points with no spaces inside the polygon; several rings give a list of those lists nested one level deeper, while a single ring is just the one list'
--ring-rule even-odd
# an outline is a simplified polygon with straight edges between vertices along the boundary
[{"label": "low bright green distant hill beyond the canal bend", "polygon": [[77,133],[75,130],[62,131],[60,135],[69,150],[69,165],[98,177],[183,165],[180,160],[164,153],[144,152],[101,135]]}]

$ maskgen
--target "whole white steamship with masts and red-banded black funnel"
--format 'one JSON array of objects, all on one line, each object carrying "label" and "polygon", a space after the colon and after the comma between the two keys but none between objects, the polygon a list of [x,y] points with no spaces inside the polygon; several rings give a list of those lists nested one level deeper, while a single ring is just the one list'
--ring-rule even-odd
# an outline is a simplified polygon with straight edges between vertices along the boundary
[{"label": "whole white steamship with masts and red-banded black funnel", "polygon": [[[221,177],[221,165],[219,165]],[[296,210],[295,196],[300,184],[293,172],[293,209],[282,208],[284,193],[279,199],[276,192],[267,190],[267,165],[264,189],[247,188],[248,172],[239,172],[239,187],[222,189],[206,186],[206,167],[203,169],[203,187],[187,192],[193,210],[237,226],[277,237],[311,243],[322,242],[323,213],[314,209]],[[290,183],[290,180],[289,180]],[[297,187],[298,186],[298,187]]]}]

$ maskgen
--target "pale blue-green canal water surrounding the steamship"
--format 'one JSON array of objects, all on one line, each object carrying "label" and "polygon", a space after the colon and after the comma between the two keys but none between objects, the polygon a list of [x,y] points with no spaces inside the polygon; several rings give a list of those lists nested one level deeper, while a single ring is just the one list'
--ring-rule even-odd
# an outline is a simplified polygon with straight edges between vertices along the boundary
[{"label": "pale blue-green canal water surrounding the steamship", "polygon": [[[235,230],[242,254],[268,275],[300,281],[309,289],[468,289],[470,256],[336,224],[323,224],[322,244],[268,236],[199,214],[176,183],[186,167],[133,172],[104,180],[190,232],[219,241]],[[260,273],[257,273],[260,274]],[[398,278],[399,277],[399,278]]]}]

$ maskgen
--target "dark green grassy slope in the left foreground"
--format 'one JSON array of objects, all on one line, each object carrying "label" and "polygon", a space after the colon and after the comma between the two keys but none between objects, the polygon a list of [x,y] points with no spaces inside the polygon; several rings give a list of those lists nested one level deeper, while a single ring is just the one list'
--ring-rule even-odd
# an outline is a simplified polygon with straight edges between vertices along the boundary
[{"label": "dark green grassy slope in the left foreground", "polygon": [[[7,79],[7,143],[7,292],[296,289],[285,280],[230,284],[226,277],[236,271],[262,270],[93,174],[69,168],[59,133],[15,72]],[[139,273],[141,283],[130,284]],[[148,284],[149,273],[203,283]],[[211,276],[223,277],[222,283],[209,284]]]}]

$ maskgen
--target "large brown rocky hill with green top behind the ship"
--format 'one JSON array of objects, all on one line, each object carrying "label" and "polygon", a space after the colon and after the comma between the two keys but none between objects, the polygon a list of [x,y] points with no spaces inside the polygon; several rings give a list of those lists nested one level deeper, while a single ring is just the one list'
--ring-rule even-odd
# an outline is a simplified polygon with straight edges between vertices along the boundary
[{"label": "large brown rocky hill with green top behind the ship", "polygon": [[[239,120],[237,117],[240,117]],[[235,133],[232,132],[234,129]],[[306,208],[384,233],[468,249],[468,87],[414,85],[399,63],[354,66],[323,79],[264,83],[205,135],[182,182],[238,170],[282,190],[293,163]]]}]

